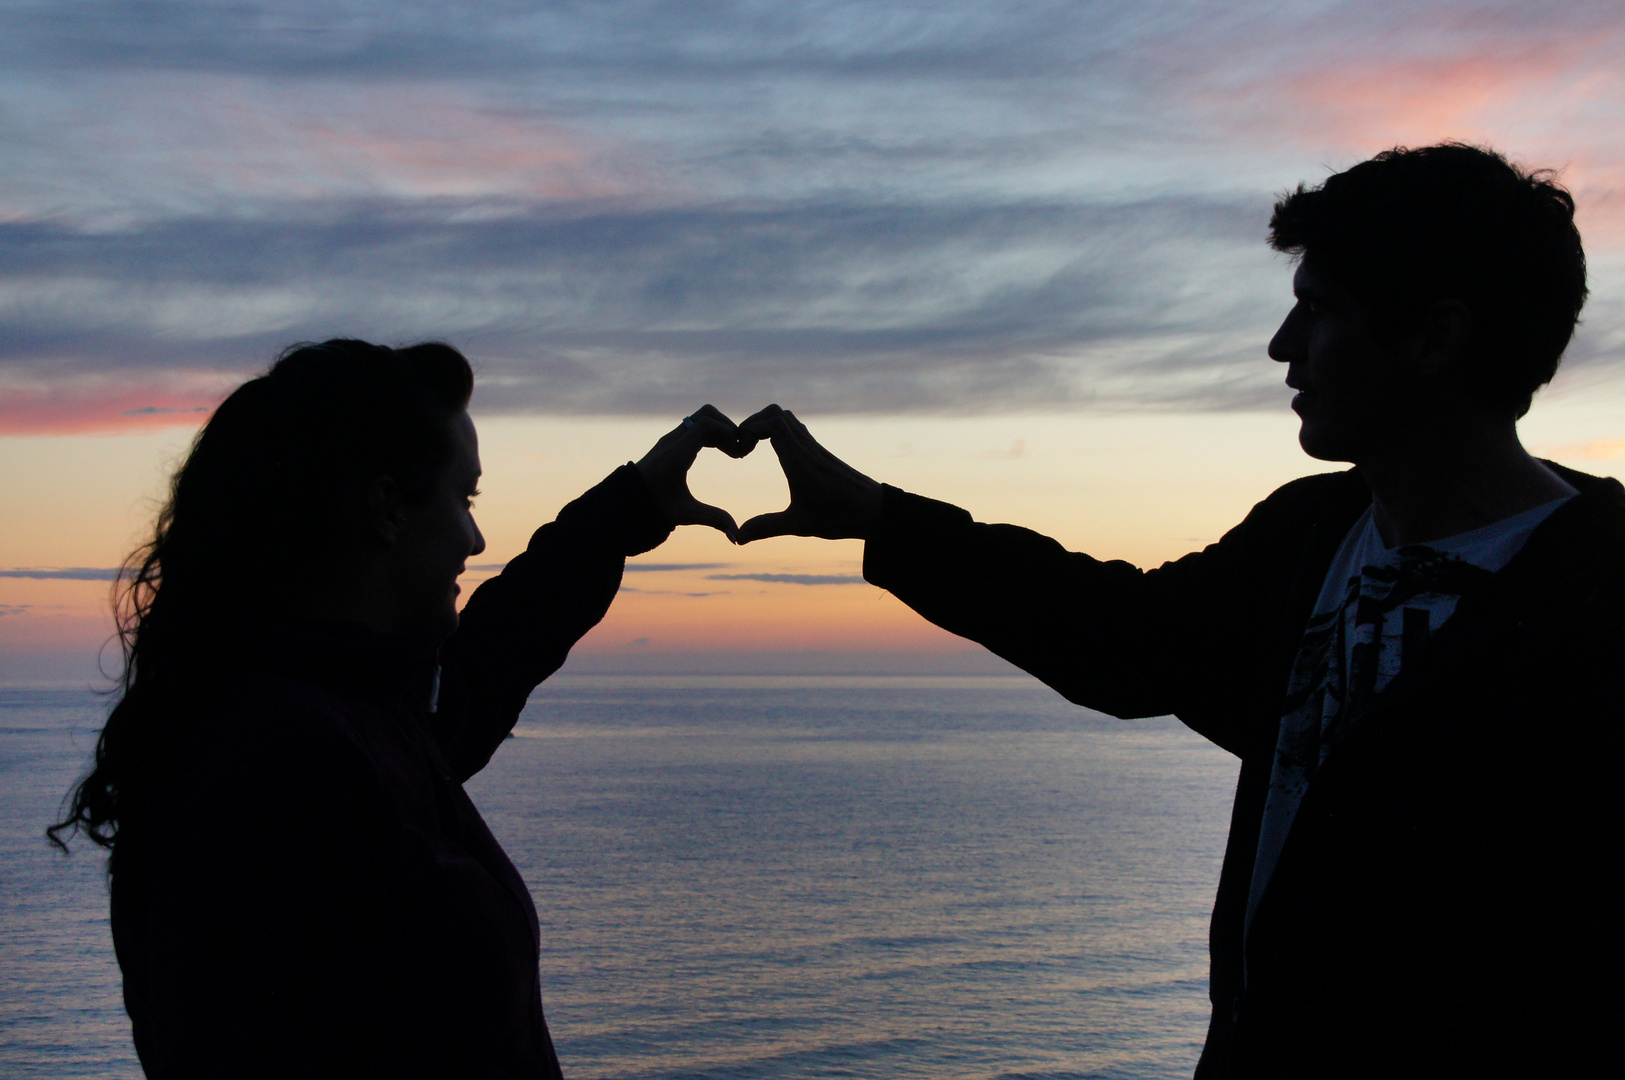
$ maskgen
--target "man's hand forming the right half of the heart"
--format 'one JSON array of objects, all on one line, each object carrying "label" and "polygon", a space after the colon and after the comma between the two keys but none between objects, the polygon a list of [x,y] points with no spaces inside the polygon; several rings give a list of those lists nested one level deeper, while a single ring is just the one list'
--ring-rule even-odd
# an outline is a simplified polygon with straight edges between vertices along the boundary
[{"label": "man's hand forming the right half of the heart", "polygon": [[806,426],[770,404],[739,426],[744,438],[772,438],[790,481],[790,507],[739,526],[739,544],[767,536],[868,539],[881,520],[881,486],[821,447]]}]

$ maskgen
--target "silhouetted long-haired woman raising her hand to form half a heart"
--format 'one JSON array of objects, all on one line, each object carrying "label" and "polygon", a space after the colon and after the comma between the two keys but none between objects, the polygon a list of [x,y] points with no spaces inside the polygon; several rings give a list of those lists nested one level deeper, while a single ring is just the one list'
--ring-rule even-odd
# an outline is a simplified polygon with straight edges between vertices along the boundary
[{"label": "silhouetted long-haired woman raising her hand to form half a heart", "polygon": [[484,549],[450,346],[296,348],[216,409],[120,585],[122,697],[75,789],[110,848],[148,1075],[557,1077],[530,892],[463,793],[674,525],[707,406]]}]

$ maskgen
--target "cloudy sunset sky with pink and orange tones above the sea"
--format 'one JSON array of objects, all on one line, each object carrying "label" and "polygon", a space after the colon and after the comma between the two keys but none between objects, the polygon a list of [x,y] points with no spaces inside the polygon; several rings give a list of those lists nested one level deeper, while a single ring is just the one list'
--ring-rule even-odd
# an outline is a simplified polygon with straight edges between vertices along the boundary
[{"label": "cloudy sunset sky with pink and orange tones above the sea", "polygon": [[[474,361],[491,567],[704,401],[1155,565],[1324,468],[1269,206],[1393,145],[1560,171],[1592,297],[1524,440],[1617,474],[1622,57],[1528,0],[0,2],[0,682],[94,671],[197,426],[328,336]],[[572,663],[982,663],[860,565],[679,529]]]}]

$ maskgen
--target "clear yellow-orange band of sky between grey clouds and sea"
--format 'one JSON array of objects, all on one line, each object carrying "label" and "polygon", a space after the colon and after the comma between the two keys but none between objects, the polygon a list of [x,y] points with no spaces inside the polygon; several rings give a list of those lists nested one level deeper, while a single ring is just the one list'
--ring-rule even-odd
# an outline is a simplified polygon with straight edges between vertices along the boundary
[{"label": "clear yellow-orange band of sky between grey clouds and sea", "polygon": [[[1580,391],[1537,398],[1526,445],[1583,471],[1625,474],[1617,403]],[[1295,421],[1279,414],[1058,414],[1025,417],[804,417],[855,468],[921,495],[1012,521],[1071,551],[1154,567],[1217,539],[1279,484],[1337,468],[1305,458]],[[486,490],[476,516],[489,541],[478,564],[500,565],[531,531],[666,430],[658,419],[481,417]],[[0,568],[114,567],[151,528],[185,427],[117,437],[0,438]],[[1020,451],[1016,453],[1016,447]],[[785,505],[770,448],[743,461],[705,453],[696,495],[738,518]],[[775,538],[736,547],[679,528],[629,562],[624,591],[574,650],[616,669],[639,656],[949,656],[978,646],[928,624],[866,585],[795,585],[739,575],[856,577],[860,541]],[[244,568],[252,573],[252,568]],[[713,575],[731,575],[720,578]],[[470,572],[463,594],[489,572]],[[0,578],[0,682],[52,671],[94,679],[114,625],[110,583]],[[624,663],[622,663],[624,661]]]}]

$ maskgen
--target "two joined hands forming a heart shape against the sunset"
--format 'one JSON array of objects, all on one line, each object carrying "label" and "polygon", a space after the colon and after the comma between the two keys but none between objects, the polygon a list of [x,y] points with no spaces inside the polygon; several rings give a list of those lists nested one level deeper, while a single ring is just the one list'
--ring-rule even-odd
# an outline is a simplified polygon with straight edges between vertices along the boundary
[{"label": "two joined hands forming a heart shape against the sunset", "polygon": [[[705,447],[744,458],[757,442],[774,445],[790,486],[790,505],[743,526],[722,507],[700,502],[687,474]],[[821,447],[788,409],[770,404],[734,424],[712,404],[682,419],[637,463],[655,502],[674,525],[708,525],[736,544],[769,536],[868,538],[881,516],[881,486]]]}]

